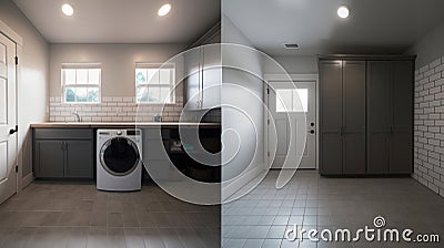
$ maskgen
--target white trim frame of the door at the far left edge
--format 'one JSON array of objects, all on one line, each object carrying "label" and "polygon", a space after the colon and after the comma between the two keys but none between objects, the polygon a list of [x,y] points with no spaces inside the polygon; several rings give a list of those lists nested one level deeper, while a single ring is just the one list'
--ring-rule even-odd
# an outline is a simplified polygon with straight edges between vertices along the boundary
[{"label": "white trim frame of the door at the far left edge", "polygon": [[[0,20],[0,33],[6,38],[11,40],[16,44],[16,56],[21,58],[22,55],[22,45],[23,39],[11,28],[9,28],[3,21]],[[33,176],[31,173],[31,177],[22,178],[22,167],[23,167],[23,158],[22,158],[22,131],[20,126],[20,117],[19,117],[19,83],[21,81],[20,76],[21,66],[20,63],[16,64],[16,125],[18,125],[19,130],[16,133],[16,166],[18,166],[16,172],[16,194],[21,192],[26,185],[32,182]],[[24,137],[23,137],[24,138]],[[27,182],[27,183],[24,183]]]}]

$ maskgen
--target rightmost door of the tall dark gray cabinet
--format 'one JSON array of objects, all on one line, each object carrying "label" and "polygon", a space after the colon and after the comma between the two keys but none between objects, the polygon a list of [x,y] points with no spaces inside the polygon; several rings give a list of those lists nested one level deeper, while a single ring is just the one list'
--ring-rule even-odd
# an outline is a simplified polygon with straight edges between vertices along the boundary
[{"label": "rightmost door of the tall dark gray cabinet", "polygon": [[412,61],[392,62],[391,174],[413,173],[413,71]]}]

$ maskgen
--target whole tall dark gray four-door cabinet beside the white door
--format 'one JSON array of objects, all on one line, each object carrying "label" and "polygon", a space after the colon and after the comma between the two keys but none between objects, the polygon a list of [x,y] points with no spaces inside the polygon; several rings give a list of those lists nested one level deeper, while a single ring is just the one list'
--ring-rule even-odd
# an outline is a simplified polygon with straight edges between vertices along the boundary
[{"label": "whole tall dark gray four-door cabinet beside the white door", "polygon": [[320,173],[413,170],[412,56],[321,56]]}]

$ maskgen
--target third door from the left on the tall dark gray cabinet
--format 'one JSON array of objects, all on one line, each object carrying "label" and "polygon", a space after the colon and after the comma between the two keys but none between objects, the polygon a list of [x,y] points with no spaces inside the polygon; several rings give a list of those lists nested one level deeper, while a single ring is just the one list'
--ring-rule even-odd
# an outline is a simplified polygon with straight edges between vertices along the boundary
[{"label": "third door from the left on the tall dark gray cabinet", "polygon": [[391,62],[367,62],[367,172],[387,174],[392,116]]}]

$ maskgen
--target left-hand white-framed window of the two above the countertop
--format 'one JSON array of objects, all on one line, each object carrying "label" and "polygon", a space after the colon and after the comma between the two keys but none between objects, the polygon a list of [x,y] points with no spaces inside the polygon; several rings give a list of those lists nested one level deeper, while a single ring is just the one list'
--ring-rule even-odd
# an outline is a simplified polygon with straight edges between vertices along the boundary
[{"label": "left-hand white-framed window of the two above the countertop", "polygon": [[63,64],[64,103],[99,103],[101,72],[100,64]]}]

